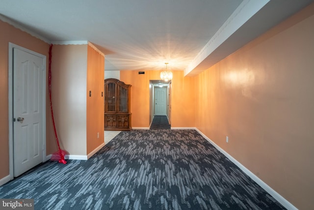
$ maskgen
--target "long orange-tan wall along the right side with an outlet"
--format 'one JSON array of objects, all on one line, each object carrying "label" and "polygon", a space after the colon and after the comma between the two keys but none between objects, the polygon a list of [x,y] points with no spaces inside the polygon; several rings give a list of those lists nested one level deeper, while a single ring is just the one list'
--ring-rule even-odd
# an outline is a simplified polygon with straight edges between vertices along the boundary
[{"label": "long orange-tan wall along the right side with an outlet", "polygon": [[313,14],[195,77],[196,127],[300,210],[314,209]]}]

